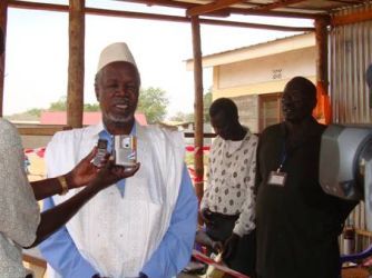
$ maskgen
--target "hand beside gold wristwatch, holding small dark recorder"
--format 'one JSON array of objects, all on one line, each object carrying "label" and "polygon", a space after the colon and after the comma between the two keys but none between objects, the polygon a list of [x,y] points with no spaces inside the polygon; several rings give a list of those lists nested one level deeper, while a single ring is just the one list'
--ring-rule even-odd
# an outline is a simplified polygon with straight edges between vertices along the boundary
[{"label": "hand beside gold wristwatch, holding small dark recorder", "polygon": [[[81,159],[81,161],[66,175],[69,189],[86,186],[97,176],[99,167],[96,167],[94,163],[91,163],[91,160],[96,153],[97,147],[95,147],[88,156]],[[102,165],[105,165],[107,160],[108,156],[104,159]]]}]

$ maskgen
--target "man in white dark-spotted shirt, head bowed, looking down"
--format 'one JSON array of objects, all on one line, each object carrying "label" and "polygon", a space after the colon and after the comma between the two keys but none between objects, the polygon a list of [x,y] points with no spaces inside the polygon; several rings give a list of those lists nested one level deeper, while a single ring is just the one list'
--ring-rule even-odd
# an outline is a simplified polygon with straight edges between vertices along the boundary
[{"label": "man in white dark-spotted shirt, head bowed, looking down", "polygon": [[209,116],[217,137],[211,149],[202,217],[207,235],[224,244],[227,266],[253,275],[257,137],[239,123],[237,107],[231,99],[215,100]]}]

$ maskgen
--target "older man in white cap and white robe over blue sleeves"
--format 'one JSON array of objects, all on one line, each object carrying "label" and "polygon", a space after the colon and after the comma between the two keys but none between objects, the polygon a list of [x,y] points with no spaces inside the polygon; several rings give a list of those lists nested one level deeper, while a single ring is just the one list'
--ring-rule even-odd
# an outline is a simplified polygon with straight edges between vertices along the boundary
[{"label": "older man in white cap and white robe over blue sleeves", "polygon": [[[100,54],[96,96],[102,122],[58,132],[48,145],[48,175],[74,167],[98,139],[137,137],[139,171],[104,190],[40,250],[51,277],[169,278],[188,262],[194,242],[197,199],[184,165],[179,132],[141,127],[135,121],[140,77],[124,42]],[[76,193],[70,191],[70,196]],[[63,198],[45,202],[52,207]]]}]

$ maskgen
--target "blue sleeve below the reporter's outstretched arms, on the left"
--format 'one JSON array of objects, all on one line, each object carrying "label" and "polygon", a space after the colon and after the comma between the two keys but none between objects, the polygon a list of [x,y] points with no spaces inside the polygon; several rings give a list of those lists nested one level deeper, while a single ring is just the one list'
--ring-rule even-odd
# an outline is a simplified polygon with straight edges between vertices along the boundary
[{"label": "blue sleeve below the reporter's outstretched arms, on the left", "polygon": [[[52,207],[52,198],[45,199],[43,210]],[[62,277],[90,278],[97,274],[81,257],[65,226],[41,242],[39,249],[48,264]]]}]

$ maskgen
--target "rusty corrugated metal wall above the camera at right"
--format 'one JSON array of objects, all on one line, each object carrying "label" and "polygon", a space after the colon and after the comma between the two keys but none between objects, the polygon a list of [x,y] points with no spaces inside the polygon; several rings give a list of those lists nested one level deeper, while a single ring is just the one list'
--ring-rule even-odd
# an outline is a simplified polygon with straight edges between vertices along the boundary
[{"label": "rusty corrugated metal wall above the camera at right", "polygon": [[[345,9],[344,16],[371,9],[371,2]],[[330,31],[330,92],[333,122],[372,123],[365,70],[372,63],[372,21],[333,28]]]}]

